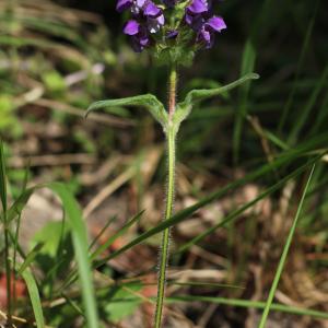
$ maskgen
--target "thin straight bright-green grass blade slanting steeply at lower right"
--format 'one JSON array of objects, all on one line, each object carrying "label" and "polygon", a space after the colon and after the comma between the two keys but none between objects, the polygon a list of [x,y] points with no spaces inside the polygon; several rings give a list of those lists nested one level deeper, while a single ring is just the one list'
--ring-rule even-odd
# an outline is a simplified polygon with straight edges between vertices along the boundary
[{"label": "thin straight bright-green grass blade slanting steeply at lower right", "polygon": [[306,197],[306,194],[307,194],[311,180],[312,180],[314,169],[315,169],[315,164],[314,164],[314,166],[311,171],[311,174],[309,174],[309,177],[307,179],[304,192],[302,195],[302,199],[301,199],[298,208],[297,208],[297,212],[296,212],[293,225],[290,230],[288,239],[286,239],[285,245],[283,247],[283,251],[282,251],[280,261],[279,261],[279,266],[278,266],[278,269],[277,269],[272,285],[271,285],[271,289],[270,289],[269,297],[268,297],[267,303],[266,303],[266,307],[265,307],[265,311],[263,311],[263,314],[262,314],[262,317],[261,317],[261,320],[260,320],[260,324],[259,324],[259,328],[263,328],[266,326],[266,321],[267,321],[267,318],[268,318],[268,315],[269,315],[269,312],[270,312],[270,308],[271,308],[271,305],[272,305],[272,301],[273,301],[273,297],[274,297],[274,294],[276,294],[276,291],[277,291],[277,288],[278,288],[278,283],[279,283],[283,267],[284,267],[284,262],[286,260],[288,253],[289,253],[291,244],[292,244],[292,239],[293,239],[293,236],[294,236],[294,233],[295,233],[295,230],[296,230],[296,225],[297,225],[298,219],[301,216],[304,200],[305,200],[305,197]]}]

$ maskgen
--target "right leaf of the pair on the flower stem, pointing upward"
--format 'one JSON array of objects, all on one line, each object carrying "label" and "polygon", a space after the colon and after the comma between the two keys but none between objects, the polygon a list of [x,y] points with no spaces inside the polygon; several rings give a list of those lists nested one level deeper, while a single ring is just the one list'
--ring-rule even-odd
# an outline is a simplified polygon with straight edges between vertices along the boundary
[{"label": "right leaf of the pair on the flower stem, pointing upward", "polygon": [[227,85],[215,87],[215,89],[201,89],[201,90],[191,90],[183,103],[177,104],[176,113],[174,115],[174,121],[177,127],[183,120],[185,120],[190,114],[192,106],[201,101],[224,94],[232,89],[245,83],[249,80],[257,80],[259,75],[256,73],[249,73],[241,78],[239,80],[232,82]]}]

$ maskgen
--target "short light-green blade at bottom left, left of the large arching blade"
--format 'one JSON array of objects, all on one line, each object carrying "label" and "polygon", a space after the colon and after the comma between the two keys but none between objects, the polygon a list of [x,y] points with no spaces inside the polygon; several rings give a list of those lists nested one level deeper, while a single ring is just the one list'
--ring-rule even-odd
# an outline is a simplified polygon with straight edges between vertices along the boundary
[{"label": "short light-green blade at bottom left, left of the large arching blade", "polygon": [[35,316],[35,321],[36,321],[36,327],[37,328],[44,328],[45,327],[45,319],[44,319],[44,314],[43,314],[43,307],[39,298],[39,293],[37,289],[37,284],[35,282],[35,279],[33,274],[31,273],[30,269],[26,269],[22,272],[22,277],[25,280],[34,316]]}]

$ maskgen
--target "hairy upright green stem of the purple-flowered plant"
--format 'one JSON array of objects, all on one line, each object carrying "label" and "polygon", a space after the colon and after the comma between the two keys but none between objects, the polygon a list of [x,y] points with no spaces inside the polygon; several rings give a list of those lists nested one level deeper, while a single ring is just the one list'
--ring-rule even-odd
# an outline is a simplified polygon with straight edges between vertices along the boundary
[{"label": "hairy upright green stem of the purple-flowered plant", "polygon": [[[167,188],[166,188],[166,208],[164,220],[167,220],[173,214],[174,195],[175,195],[175,137],[176,129],[173,124],[173,115],[176,105],[176,84],[177,73],[175,67],[172,68],[169,74],[169,96],[168,96],[168,126],[165,131],[167,143]],[[157,282],[157,300],[155,312],[155,328],[162,326],[163,304],[165,298],[165,284],[166,284],[166,268],[168,262],[169,250],[169,229],[164,230],[162,236],[162,248],[159,268],[159,282]]]}]

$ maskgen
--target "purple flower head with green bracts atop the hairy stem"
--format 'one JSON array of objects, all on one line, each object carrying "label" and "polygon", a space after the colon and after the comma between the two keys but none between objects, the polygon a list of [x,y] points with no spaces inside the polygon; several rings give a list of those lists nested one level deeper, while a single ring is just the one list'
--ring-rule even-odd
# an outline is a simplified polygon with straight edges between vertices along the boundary
[{"label": "purple flower head with green bracts atop the hairy stem", "polygon": [[223,19],[213,14],[213,0],[117,0],[116,9],[131,13],[124,33],[136,51],[152,47],[160,56],[168,50],[181,62],[184,54],[211,48],[215,34],[226,28]]}]

